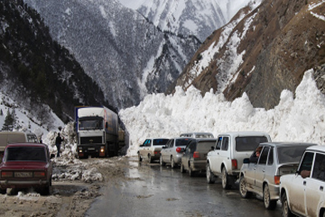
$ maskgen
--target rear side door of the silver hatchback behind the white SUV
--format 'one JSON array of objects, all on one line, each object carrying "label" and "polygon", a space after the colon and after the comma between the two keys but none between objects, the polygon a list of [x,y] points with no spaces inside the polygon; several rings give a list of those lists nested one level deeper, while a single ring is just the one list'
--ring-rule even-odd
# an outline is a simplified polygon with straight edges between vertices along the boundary
[{"label": "rear side door of the silver hatchback behind the white SUV", "polygon": [[260,154],[260,159],[257,162],[256,169],[255,169],[255,186],[259,192],[262,192],[262,185],[265,178],[265,167],[267,163],[267,157],[269,156],[270,147],[263,147],[262,152]]}]

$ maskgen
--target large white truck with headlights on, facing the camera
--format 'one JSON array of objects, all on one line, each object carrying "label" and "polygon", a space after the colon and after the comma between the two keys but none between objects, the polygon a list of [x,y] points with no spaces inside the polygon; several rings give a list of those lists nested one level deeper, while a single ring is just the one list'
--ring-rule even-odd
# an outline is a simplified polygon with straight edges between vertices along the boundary
[{"label": "large white truck with headlights on, facing the camera", "polygon": [[107,157],[119,151],[119,125],[115,112],[107,107],[75,107],[79,158]]}]

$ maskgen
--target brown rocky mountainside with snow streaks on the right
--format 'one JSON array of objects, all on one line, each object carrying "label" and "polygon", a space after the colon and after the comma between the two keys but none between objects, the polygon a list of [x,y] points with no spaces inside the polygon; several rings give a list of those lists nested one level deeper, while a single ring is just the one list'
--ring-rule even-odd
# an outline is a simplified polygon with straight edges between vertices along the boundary
[{"label": "brown rocky mountainside with snow streaks on the right", "polygon": [[325,63],[324,11],[320,0],[245,7],[203,42],[169,92],[193,85],[227,100],[246,92],[253,106],[274,107],[282,90],[294,92],[306,70]]}]

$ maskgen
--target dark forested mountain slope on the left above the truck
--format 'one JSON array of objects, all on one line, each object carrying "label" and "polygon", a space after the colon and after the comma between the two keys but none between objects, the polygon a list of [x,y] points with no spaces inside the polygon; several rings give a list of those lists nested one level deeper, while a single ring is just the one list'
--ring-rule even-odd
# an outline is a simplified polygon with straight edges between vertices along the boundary
[{"label": "dark forested mountain slope on the left above the truck", "polygon": [[23,107],[31,122],[50,129],[52,112],[67,122],[75,105],[109,106],[73,55],[53,41],[41,16],[21,0],[0,1],[0,53],[1,105]]}]

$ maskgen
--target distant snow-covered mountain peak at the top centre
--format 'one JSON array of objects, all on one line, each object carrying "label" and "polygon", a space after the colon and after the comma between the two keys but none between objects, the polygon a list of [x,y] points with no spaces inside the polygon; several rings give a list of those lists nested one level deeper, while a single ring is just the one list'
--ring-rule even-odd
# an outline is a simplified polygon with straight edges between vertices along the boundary
[{"label": "distant snow-covered mountain peak at the top centre", "polygon": [[248,4],[257,6],[260,0],[146,0],[137,11],[163,31],[194,35],[205,41]]}]

